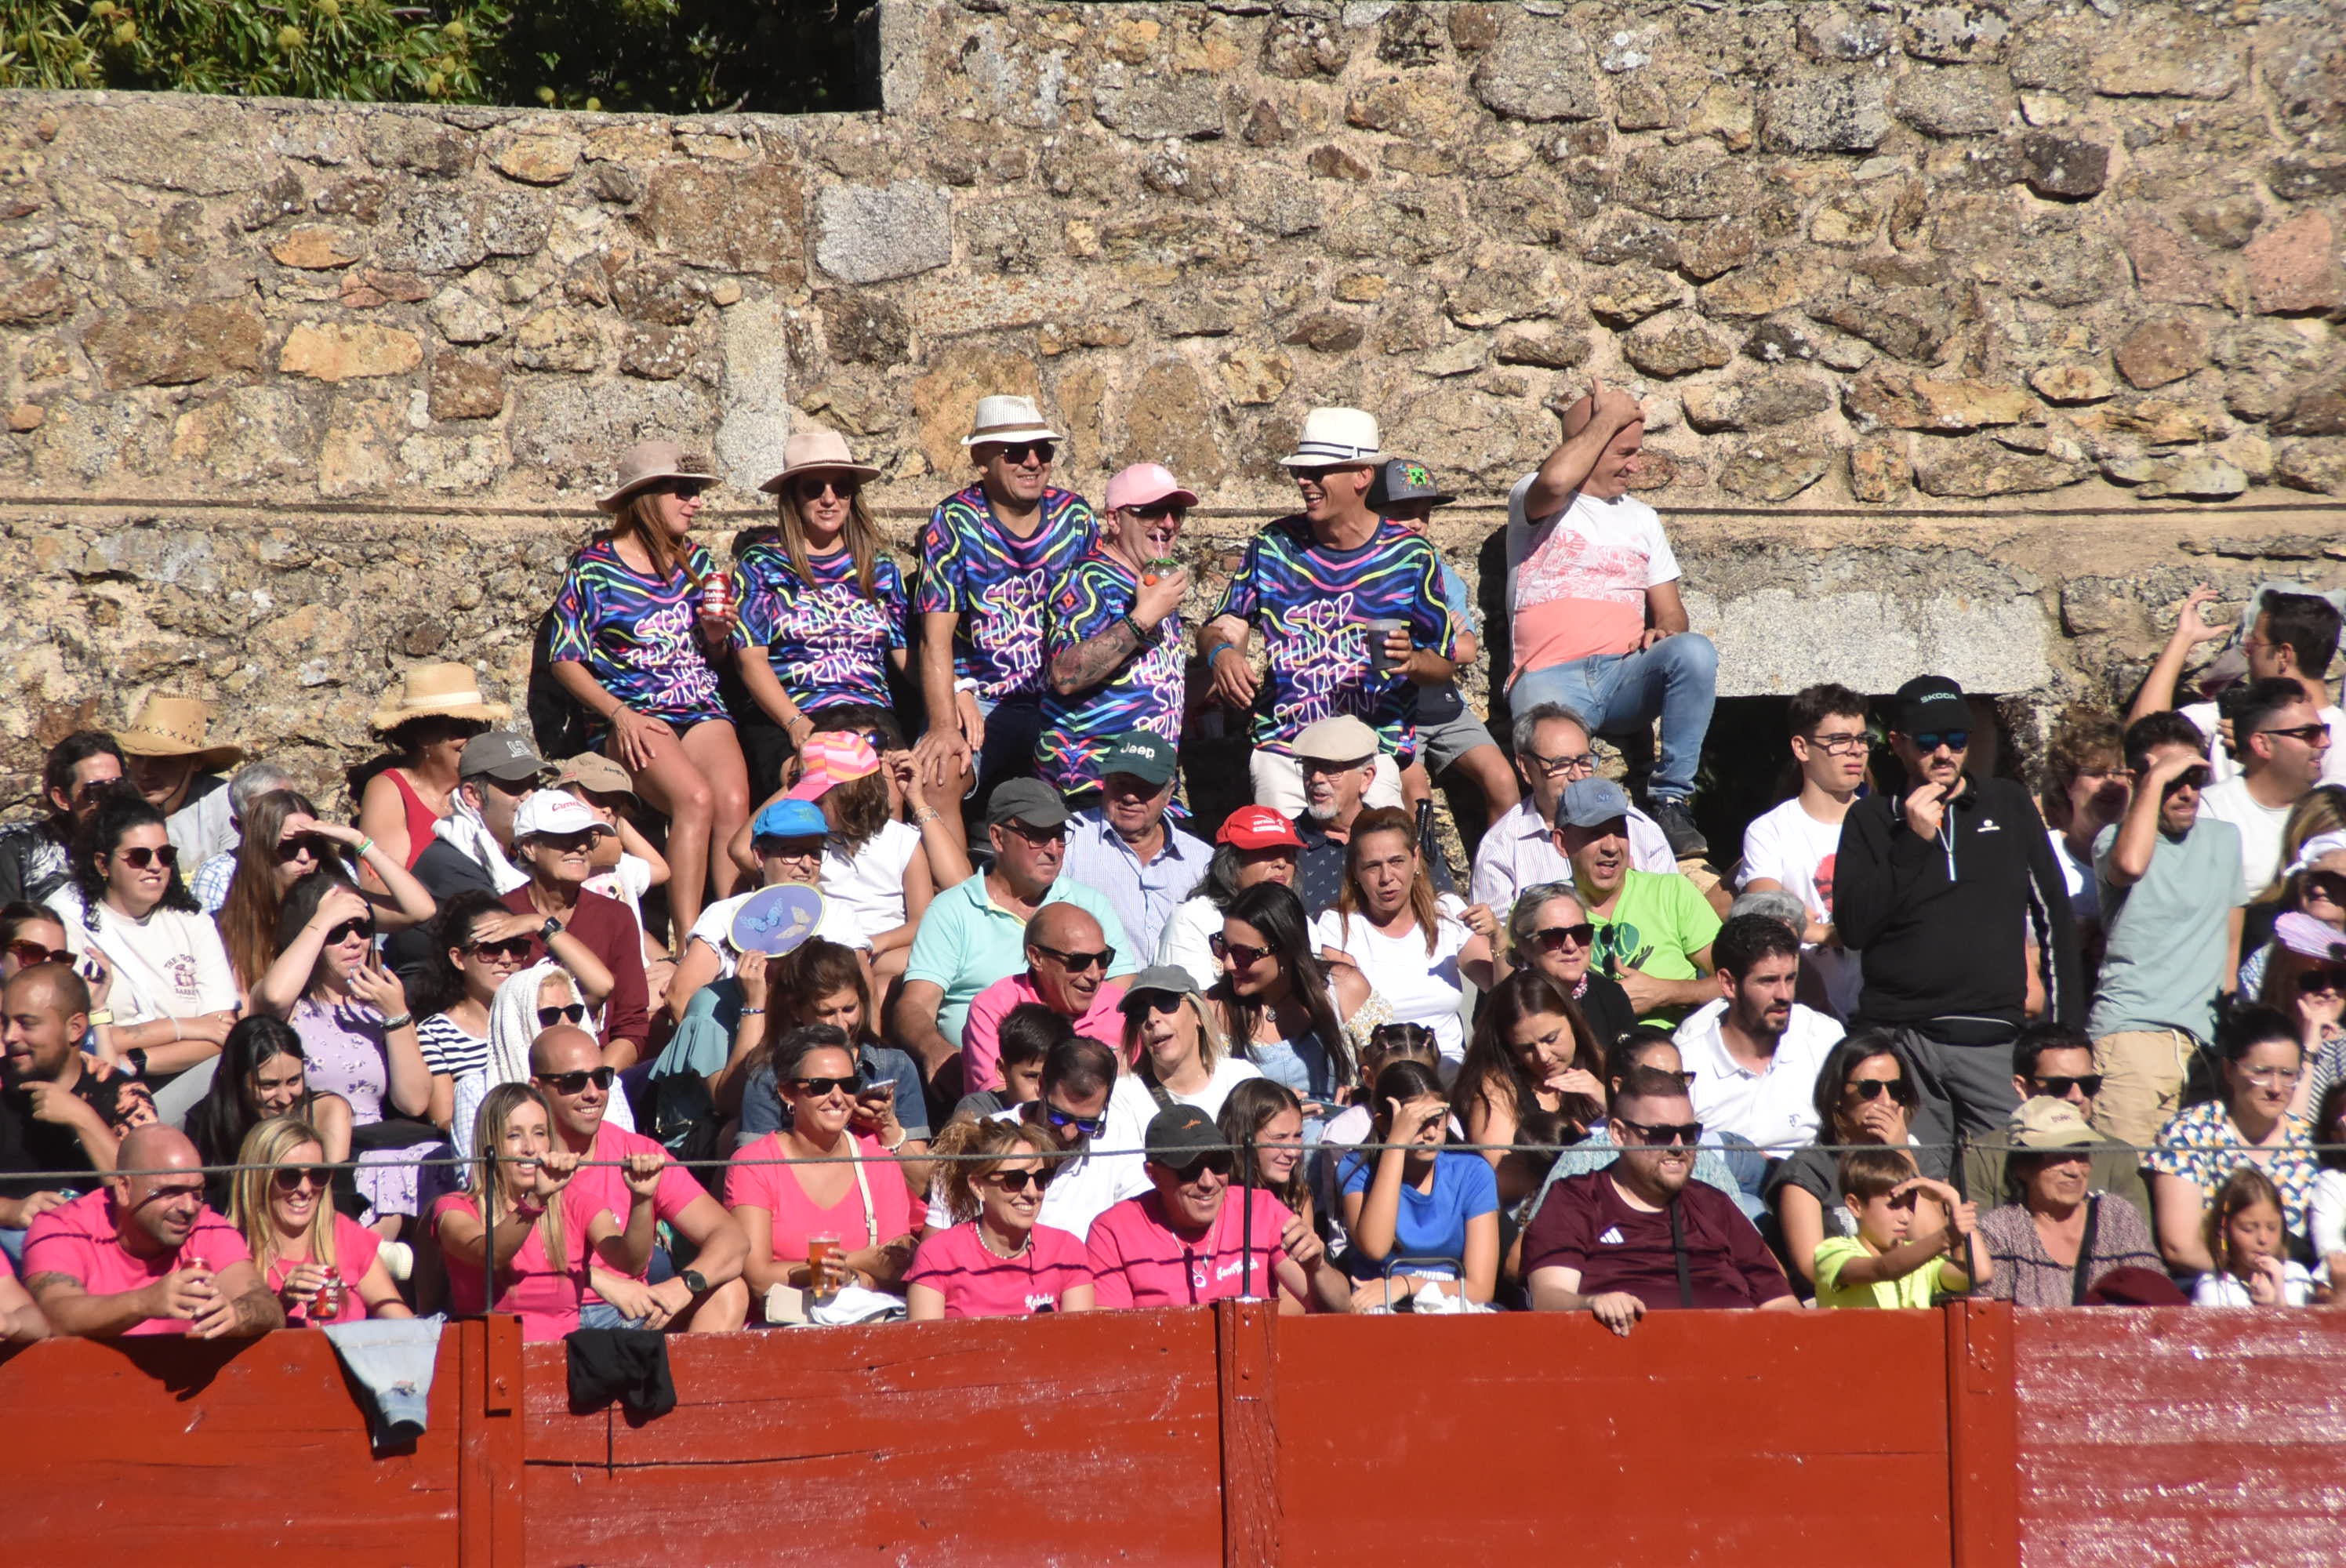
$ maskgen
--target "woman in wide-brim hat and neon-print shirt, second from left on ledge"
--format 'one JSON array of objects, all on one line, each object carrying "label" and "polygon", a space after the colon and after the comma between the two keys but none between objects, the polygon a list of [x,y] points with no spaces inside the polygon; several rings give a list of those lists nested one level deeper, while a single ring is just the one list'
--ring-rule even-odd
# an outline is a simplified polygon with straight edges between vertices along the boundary
[{"label": "woman in wide-brim hat and neon-print shirt, second from left on ledge", "polygon": [[906,667],[903,573],[880,542],[863,486],[880,477],[845,437],[800,430],[781,448],[774,528],[734,559],[741,587],[741,714],[751,798],[781,786],[781,763],[840,704],[894,707],[889,667]]}]

